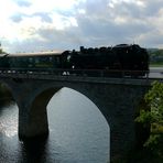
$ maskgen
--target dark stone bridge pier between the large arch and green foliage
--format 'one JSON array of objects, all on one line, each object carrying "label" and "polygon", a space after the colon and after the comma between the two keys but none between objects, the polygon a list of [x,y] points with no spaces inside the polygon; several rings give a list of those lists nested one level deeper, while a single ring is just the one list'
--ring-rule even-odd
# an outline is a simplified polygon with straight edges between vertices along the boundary
[{"label": "dark stone bridge pier between the large arch and green foliage", "polygon": [[87,96],[101,111],[110,128],[110,160],[120,161],[134,150],[135,113],[150,86],[141,84],[88,84],[74,88]]}]

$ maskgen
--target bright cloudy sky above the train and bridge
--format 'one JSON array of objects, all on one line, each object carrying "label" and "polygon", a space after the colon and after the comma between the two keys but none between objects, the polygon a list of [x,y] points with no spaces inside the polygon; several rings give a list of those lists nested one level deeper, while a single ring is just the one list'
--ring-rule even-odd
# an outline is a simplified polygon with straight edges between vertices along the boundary
[{"label": "bright cloudy sky above the train and bridge", "polygon": [[0,42],[8,53],[137,43],[163,48],[163,0],[3,0]]}]

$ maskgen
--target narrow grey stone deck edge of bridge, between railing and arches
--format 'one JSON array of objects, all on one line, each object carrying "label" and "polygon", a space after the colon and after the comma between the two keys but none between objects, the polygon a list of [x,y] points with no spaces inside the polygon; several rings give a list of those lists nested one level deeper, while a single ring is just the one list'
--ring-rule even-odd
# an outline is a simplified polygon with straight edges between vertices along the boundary
[{"label": "narrow grey stone deck edge of bridge, between railing and arches", "polygon": [[12,78],[12,79],[44,79],[44,80],[57,80],[57,82],[74,82],[74,83],[104,83],[104,84],[126,84],[126,85],[151,85],[152,82],[159,80],[163,83],[163,78],[152,77],[89,77],[89,76],[73,76],[73,75],[53,75],[53,74],[12,74],[1,73],[0,78]]}]

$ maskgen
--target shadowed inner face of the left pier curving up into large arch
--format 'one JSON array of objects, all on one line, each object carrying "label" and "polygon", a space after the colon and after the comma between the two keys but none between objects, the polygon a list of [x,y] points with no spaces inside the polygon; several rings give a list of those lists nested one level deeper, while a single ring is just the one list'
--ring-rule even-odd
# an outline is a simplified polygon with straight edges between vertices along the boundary
[{"label": "shadowed inner face of the left pier curving up into large arch", "polygon": [[[61,87],[51,87],[39,91],[33,96],[32,102],[28,108],[28,117],[25,124],[25,134],[23,135],[23,130],[21,130],[20,139],[34,138],[34,137],[46,137],[48,134],[48,120],[46,106],[50,99],[55,93],[57,93]],[[20,127],[21,128],[21,127]]]}]

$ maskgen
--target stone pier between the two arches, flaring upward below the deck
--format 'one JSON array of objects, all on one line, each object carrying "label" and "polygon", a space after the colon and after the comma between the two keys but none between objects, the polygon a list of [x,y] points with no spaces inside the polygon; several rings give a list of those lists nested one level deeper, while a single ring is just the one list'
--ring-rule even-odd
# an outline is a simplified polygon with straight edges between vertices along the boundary
[{"label": "stone pier between the two arches, flaring upward below the deck", "polygon": [[48,119],[46,106],[61,87],[47,89],[40,80],[7,80],[19,108],[18,134],[21,140],[48,135]]}]

